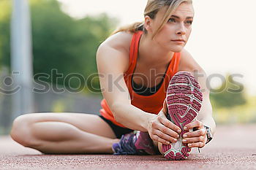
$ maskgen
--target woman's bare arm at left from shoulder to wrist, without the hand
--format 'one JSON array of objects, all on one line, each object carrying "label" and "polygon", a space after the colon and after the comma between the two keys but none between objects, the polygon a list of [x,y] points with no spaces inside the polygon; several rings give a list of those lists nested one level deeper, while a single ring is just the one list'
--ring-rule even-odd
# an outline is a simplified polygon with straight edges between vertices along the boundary
[{"label": "woman's bare arm at left from shoulder to wrist, without the hand", "polygon": [[146,131],[146,117],[149,115],[131,104],[129,91],[124,82],[129,58],[121,48],[102,44],[97,50],[97,69],[102,96],[108,103],[115,120],[127,128]]}]

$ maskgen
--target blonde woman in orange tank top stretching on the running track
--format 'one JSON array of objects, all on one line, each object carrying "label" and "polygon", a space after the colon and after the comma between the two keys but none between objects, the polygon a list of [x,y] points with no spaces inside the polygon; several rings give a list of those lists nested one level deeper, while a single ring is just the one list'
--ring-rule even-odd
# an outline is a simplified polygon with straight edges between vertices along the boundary
[{"label": "blonde woman in orange tank top stretching on the running track", "polygon": [[[148,0],[144,15],[143,23],[116,31],[97,50],[97,68],[104,96],[101,116],[78,113],[20,115],[13,122],[12,139],[43,153],[152,155],[161,152],[169,159],[187,158],[190,148],[204,147],[212,138],[209,135],[214,134],[216,125],[206,88],[206,74],[184,50],[192,30],[192,1]],[[173,119],[173,113],[179,111],[171,106],[175,99],[171,96],[176,93],[177,81],[185,86],[192,81],[191,87],[195,88],[195,71],[203,75],[199,80],[203,102],[195,104],[196,112],[186,118],[186,125],[182,125],[181,120]],[[186,87],[178,89],[181,89],[178,92],[181,96],[192,92]],[[197,90],[195,96],[200,95],[202,93]],[[194,101],[192,99],[191,105]],[[137,133],[133,133],[134,130]]]}]

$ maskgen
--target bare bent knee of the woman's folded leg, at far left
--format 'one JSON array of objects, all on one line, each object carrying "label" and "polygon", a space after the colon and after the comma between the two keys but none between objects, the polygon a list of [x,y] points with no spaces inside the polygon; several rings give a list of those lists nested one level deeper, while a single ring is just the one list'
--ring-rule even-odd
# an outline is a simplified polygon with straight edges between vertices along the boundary
[{"label": "bare bent knee of the woman's folded leg, at far left", "polygon": [[37,145],[36,140],[31,135],[31,124],[33,119],[31,114],[20,115],[13,120],[10,136],[15,142],[22,144],[24,147]]}]

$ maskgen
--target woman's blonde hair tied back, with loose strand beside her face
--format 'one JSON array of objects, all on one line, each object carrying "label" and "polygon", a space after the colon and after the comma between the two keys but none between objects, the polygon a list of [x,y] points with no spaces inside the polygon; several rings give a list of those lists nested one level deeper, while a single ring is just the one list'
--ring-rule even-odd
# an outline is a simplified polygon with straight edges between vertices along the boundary
[{"label": "woman's blonde hair tied back, with loose strand beside her face", "polygon": [[[144,11],[144,17],[148,16],[154,20],[157,12],[159,12],[159,10],[163,7],[167,7],[165,15],[162,18],[162,23],[159,24],[159,27],[157,28],[157,31],[154,32],[153,37],[162,29],[165,23],[167,23],[167,20],[169,20],[170,15],[176,10],[176,8],[184,2],[192,4],[192,0],[148,0]],[[147,34],[147,31],[144,28],[144,21],[132,23],[129,26],[123,26],[121,28],[118,28],[118,30],[114,31],[111,35],[121,31],[129,31],[132,33],[135,33],[137,31],[144,31],[144,33]]]}]

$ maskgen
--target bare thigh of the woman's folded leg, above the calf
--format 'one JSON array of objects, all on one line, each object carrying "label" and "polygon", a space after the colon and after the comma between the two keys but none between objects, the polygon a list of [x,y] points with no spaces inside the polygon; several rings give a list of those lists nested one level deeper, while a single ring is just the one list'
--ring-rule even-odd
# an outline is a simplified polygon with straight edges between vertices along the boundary
[{"label": "bare thigh of the woman's folded leg, above the calf", "polygon": [[38,122],[63,122],[74,125],[81,131],[86,131],[91,134],[99,136],[105,136],[111,139],[115,139],[110,125],[102,120],[98,115],[83,114],[83,113],[71,113],[71,112],[42,112],[42,113],[29,113],[22,115],[26,119],[27,123]]}]

